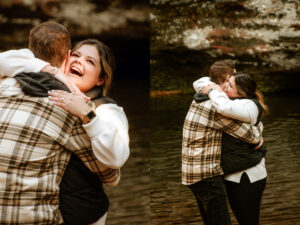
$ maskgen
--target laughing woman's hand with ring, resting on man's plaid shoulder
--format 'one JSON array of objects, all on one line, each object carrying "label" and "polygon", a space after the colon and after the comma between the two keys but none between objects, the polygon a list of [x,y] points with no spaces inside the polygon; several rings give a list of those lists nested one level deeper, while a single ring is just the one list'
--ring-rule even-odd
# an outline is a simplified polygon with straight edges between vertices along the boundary
[{"label": "laughing woman's hand with ring, resting on man's plaid shoulder", "polygon": [[48,92],[49,99],[54,105],[59,106],[69,113],[77,116],[81,120],[91,111],[91,107],[87,104],[87,98],[77,93],[69,93],[66,91],[52,90]]}]

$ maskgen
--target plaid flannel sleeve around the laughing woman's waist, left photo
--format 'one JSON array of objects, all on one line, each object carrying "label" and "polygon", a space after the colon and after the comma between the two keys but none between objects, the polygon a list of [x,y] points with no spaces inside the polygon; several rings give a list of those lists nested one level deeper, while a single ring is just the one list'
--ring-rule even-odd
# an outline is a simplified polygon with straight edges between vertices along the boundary
[{"label": "plaid flannel sleeve around the laughing woman's waist, left photo", "polygon": [[105,166],[95,157],[91,140],[77,119],[65,147],[73,152],[82,162],[95,173],[103,184],[116,186],[120,180],[120,169],[112,169]]}]

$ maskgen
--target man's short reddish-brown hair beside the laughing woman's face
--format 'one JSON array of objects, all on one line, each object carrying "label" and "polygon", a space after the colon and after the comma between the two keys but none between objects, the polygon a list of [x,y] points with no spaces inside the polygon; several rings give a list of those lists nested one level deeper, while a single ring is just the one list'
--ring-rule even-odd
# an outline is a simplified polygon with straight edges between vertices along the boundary
[{"label": "man's short reddish-brown hair beside the laughing woman's face", "polygon": [[71,48],[69,31],[56,22],[33,27],[29,35],[29,49],[35,57],[60,67]]}]

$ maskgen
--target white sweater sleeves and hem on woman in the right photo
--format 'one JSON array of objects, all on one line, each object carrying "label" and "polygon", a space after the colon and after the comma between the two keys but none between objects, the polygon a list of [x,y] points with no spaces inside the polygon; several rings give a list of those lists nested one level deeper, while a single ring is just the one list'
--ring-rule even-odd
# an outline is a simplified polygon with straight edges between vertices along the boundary
[{"label": "white sweater sleeves and hem on woman in the right photo", "polygon": [[[202,77],[193,83],[196,92],[203,87],[213,84],[209,77]],[[255,124],[258,116],[256,104],[249,99],[230,100],[224,92],[213,90],[209,93],[209,98],[217,111],[227,117],[240,120],[246,123]],[[255,150],[253,150],[255,151]],[[256,166],[243,171],[238,171],[225,176],[225,180],[239,183],[243,173],[247,173],[251,183],[267,177],[265,159],[263,158]]]}]

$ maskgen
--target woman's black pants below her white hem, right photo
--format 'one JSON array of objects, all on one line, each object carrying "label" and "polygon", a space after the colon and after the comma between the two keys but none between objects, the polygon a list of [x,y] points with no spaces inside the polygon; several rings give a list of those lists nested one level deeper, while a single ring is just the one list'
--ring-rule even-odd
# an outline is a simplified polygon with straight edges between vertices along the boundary
[{"label": "woman's black pants below her white hem, right photo", "polygon": [[240,183],[225,181],[229,203],[239,225],[259,224],[260,203],[266,180],[250,183],[248,175],[243,173]]}]

